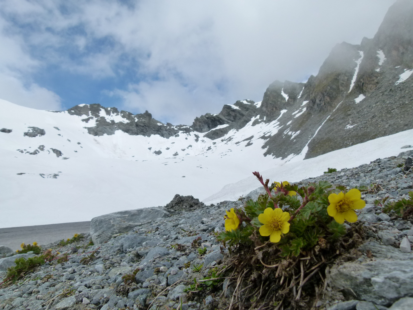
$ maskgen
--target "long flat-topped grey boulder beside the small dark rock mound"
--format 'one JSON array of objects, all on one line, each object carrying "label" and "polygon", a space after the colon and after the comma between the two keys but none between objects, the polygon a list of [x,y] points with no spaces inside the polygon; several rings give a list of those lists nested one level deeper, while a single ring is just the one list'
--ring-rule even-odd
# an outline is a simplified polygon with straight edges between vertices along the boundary
[{"label": "long flat-topped grey boulder beside the small dark rock mound", "polygon": [[163,207],[142,208],[113,212],[94,217],[90,222],[90,236],[95,244],[103,243],[114,234],[123,233],[135,226],[150,223],[159,217],[169,217],[169,212]]}]

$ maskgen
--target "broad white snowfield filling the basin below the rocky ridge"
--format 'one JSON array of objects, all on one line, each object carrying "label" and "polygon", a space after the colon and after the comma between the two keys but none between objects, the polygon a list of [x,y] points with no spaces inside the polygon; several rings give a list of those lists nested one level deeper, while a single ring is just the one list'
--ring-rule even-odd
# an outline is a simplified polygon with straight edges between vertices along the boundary
[{"label": "broad white snowfield filling the basin below the rocky ridge", "polygon": [[[413,142],[413,132],[405,131],[310,160],[303,155],[281,160],[264,157],[259,138],[275,134],[278,120],[253,126],[253,117],[243,128],[211,140],[183,131],[169,138],[121,130],[93,136],[85,127],[94,126],[95,120],[81,119],[67,111],[34,110],[0,100],[0,127],[12,129],[0,132],[0,227],[86,221],[165,205],[176,193],[209,197],[205,202],[237,199],[259,186],[250,177],[252,171],[297,181],[328,167],[354,167],[397,155],[401,146]],[[33,131],[40,134],[25,135]],[[380,139],[387,139],[385,149]]]}]

